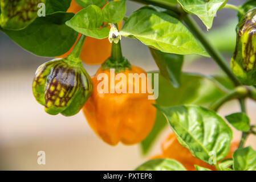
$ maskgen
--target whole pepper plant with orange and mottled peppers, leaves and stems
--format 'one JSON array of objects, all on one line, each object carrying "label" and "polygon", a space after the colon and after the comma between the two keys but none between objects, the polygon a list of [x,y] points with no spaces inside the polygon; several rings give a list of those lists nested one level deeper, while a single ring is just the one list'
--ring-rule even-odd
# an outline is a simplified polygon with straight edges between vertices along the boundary
[{"label": "whole pepper plant with orange and mottled peppers, leaves and stems", "polygon": [[[245,103],[246,98],[256,101],[255,1],[234,6],[227,0],[132,0],[144,6],[129,17],[125,16],[127,1],[0,0],[2,32],[34,55],[62,57],[36,71],[32,84],[36,100],[53,115],[71,116],[84,105],[84,115],[101,139],[112,145],[140,143],[143,154],[169,125],[172,141],[191,155],[191,161],[180,162],[179,158],[186,157],[171,154],[172,143],[169,149],[162,147],[163,155],[137,170],[256,170],[256,151],[245,147],[247,137],[256,134]],[[37,12],[39,3],[45,5],[45,16]],[[237,40],[230,66],[192,18],[192,14],[198,16],[211,31],[221,9],[237,11],[239,20],[234,27]],[[150,73],[160,73],[152,78],[152,85],[159,81],[155,101],[147,101],[150,93],[137,97],[95,91],[97,80],[87,74],[82,61],[102,64],[96,75],[110,75],[113,68],[114,75],[144,73],[123,57],[121,36],[149,47],[159,67]],[[182,72],[184,55],[193,54],[211,57],[226,76]],[[230,100],[238,100],[241,110],[227,115],[225,121],[217,111]],[[233,132],[227,122],[242,133],[234,152],[230,147]]]}]

